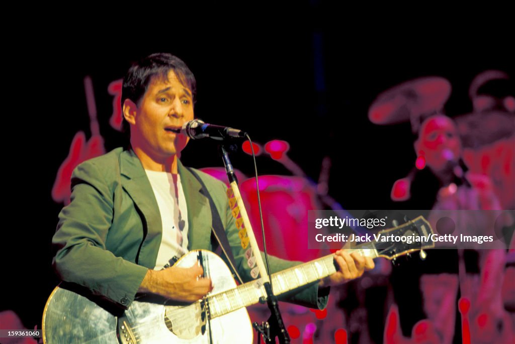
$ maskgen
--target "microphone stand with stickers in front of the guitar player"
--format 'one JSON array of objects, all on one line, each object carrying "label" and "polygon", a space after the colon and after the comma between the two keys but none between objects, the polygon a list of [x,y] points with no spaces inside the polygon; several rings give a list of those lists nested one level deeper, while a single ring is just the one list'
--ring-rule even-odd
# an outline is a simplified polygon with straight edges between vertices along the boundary
[{"label": "microphone stand with stickers in front of the guitar player", "polygon": [[[245,210],[245,205],[243,204],[241,193],[239,192],[238,180],[236,178],[236,175],[234,174],[234,169],[232,167],[231,160],[229,159],[228,150],[230,149],[227,149],[229,147],[226,148],[226,143],[222,143],[220,148],[221,157],[222,160],[224,160],[224,166],[226,168],[227,177],[229,179],[229,183],[232,190],[232,193],[230,193],[230,191],[228,190],[228,196],[230,196],[230,198],[232,198],[231,196],[234,197],[235,205],[233,209],[235,209],[236,207],[239,208],[239,215],[241,215],[242,217],[243,225],[249,239],[250,247],[252,248],[252,252],[254,254],[254,257],[256,258],[256,264],[259,267],[262,285],[264,286],[266,292],[266,301],[265,297],[262,296],[260,297],[260,302],[267,302],[268,308],[270,309],[271,313],[267,322],[264,322],[261,325],[259,325],[257,322],[254,322],[252,324],[254,329],[258,333],[258,343],[261,342],[262,335],[265,339],[265,343],[275,343],[277,337],[279,339],[279,343],[289,344],[290,337],[288,335],[288,331],[286,331],[286,328],[284,327],[281,312],[279,311],[279,303],[277,301],[277,297],[273,295],[270,278],[267,274],[265,264],[263,263],[263,258],[261,257],[258,243],[255,240],[254,232],[252,231],[252,226],[250,225],[249,217],[247,215],[247,211]],[[260,285],[260,288],[262,285]]]}]

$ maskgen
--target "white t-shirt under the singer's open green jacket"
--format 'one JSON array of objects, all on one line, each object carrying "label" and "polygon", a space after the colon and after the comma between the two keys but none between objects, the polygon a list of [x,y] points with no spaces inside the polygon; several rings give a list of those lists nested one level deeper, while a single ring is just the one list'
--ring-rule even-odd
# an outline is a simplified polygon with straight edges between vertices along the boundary
[{"label": "white t-shirt under the singer's open green jacket", "polygon": [[170,259],[181,257],[188,247],[186,200],[179,174],[145,170],[161,213],[163,236],[155,270],[171,265]]}]

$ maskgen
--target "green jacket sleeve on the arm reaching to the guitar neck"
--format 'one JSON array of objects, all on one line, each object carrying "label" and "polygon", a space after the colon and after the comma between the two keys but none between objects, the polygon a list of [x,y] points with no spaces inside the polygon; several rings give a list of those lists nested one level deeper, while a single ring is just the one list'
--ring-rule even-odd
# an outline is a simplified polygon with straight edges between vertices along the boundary
[{"label": "green jacket sleeve on the arm reaching to the guitar neck", "polygon": [[[222,183],[222,192],[225,193],[225,184]],[[247,264],[247,258],[245,257],[245,249],[242,248],[241,239],[238,236],[238,228],[236,227],[236,221],[232,215],[232,210],[229,207],[227,197],[225,197],[226,203],[226,234],[229,244],[233,252],[234,259],[236,260],[236,268],[238,273],[245,281],[250,281],[253,278],[250,275],[250,268]],[[249,245],[250,247],[250,245]],[[264,254],[261,252],[264,260]],[[271,273],[277,273],[284,269],[302,264],[303,262],[287,261],[273,256],[268,256],[270,263]],[[278,297],[280,301],[287,301],[291,303],[300,304],[306,307],[317,308],[322,310],[327,305],[329,299],[329,287],[319,288],[318,281],[312,282],[305,286],[293,289]]]}]

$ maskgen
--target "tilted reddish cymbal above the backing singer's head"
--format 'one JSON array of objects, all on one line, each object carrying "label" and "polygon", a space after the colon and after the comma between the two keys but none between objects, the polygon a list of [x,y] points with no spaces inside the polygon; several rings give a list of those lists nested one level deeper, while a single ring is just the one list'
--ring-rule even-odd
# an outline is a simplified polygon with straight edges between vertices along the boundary
[{"label": "tilted reddish cymbal above the backing singer's head", "polygon": [[442,77],[403,82],[381,93],[368,110],[375,124],[407,122],[411,116],[439,111],[451,95],[451,83]]}]

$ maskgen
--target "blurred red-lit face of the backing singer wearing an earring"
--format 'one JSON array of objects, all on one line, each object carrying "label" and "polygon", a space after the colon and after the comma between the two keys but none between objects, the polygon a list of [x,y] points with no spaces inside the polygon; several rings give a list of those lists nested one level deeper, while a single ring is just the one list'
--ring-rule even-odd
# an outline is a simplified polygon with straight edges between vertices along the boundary
[{"label": "blurred red-lit face of the backing singer wearing an earring", "polygon": [[440,171],[461,155],[461,143],[456,125],[443,115],[428,118],[420,128],[417,150],[422,151],[427,166]]}]

